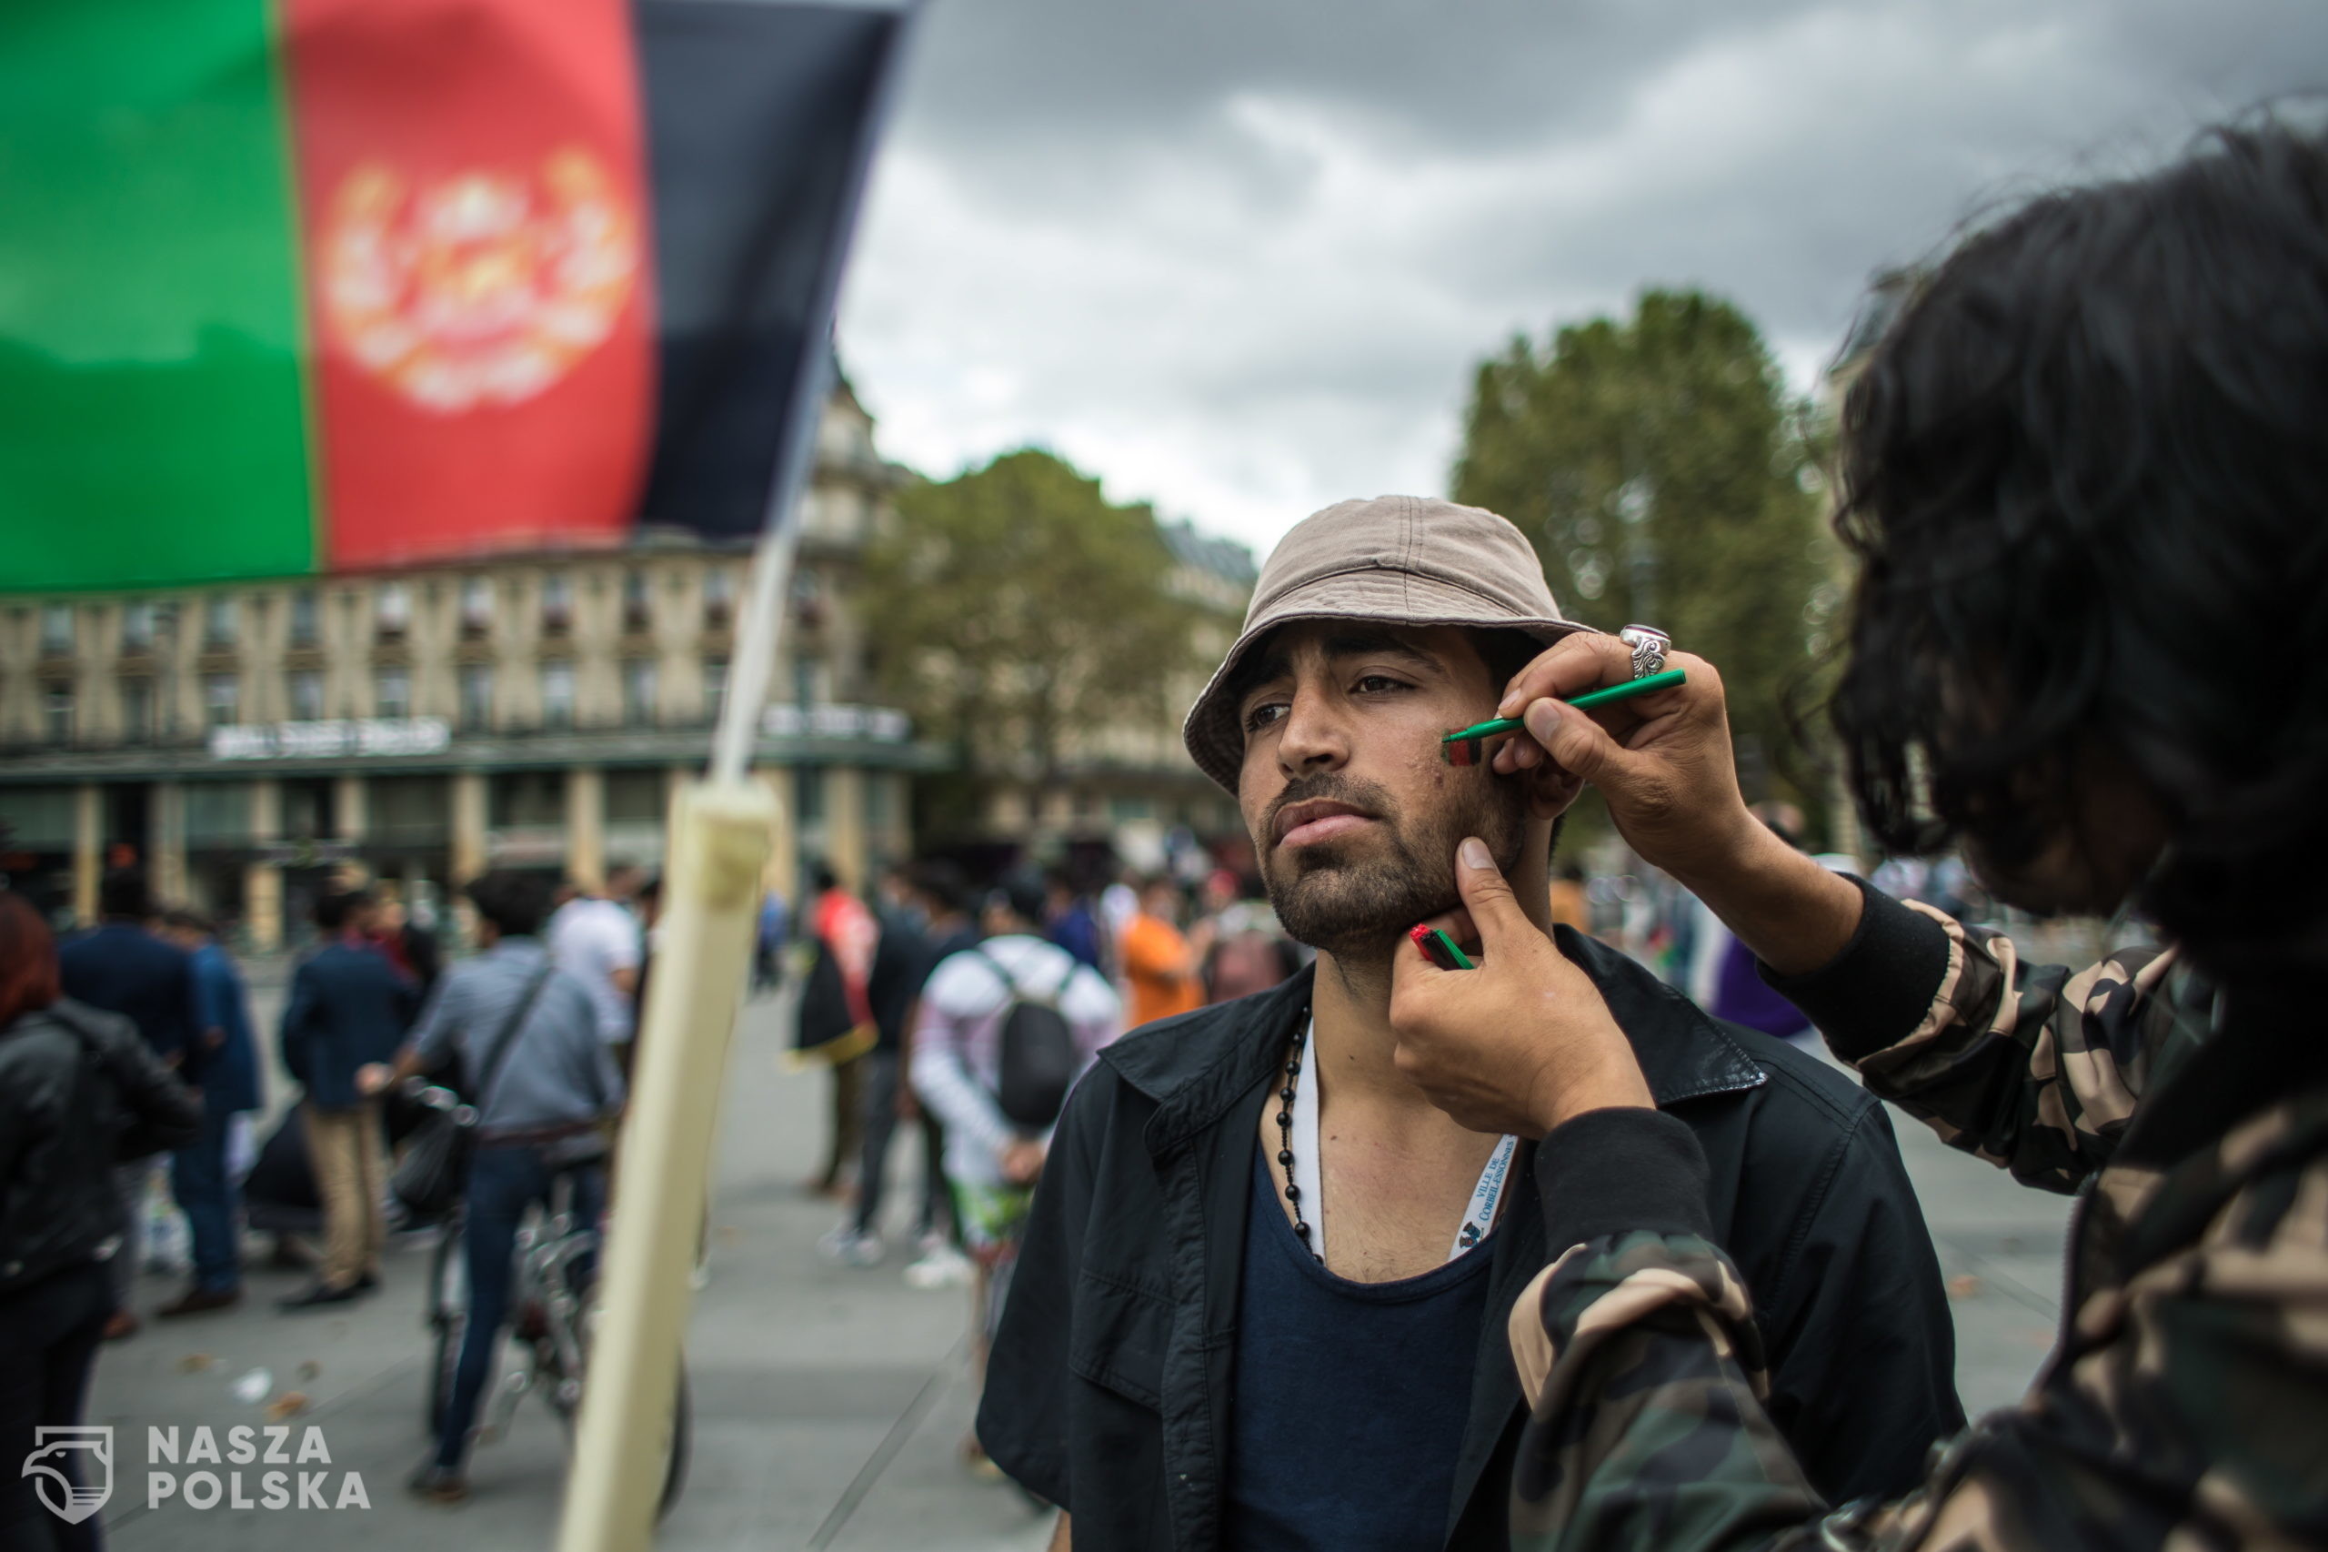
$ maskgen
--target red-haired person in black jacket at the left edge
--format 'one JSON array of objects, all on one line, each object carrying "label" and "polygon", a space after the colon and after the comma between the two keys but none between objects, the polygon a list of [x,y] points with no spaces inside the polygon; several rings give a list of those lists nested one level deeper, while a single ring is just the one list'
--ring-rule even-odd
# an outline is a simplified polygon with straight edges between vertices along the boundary
[{"label": "red-haired person in black jacket at the left edge", "polygon": [[51,1515],[40,1477],[95,1487],[81,1449],[40,1428],[81,1422],[126,1251],[116,1161],[191,1142],[203,1102],[116,1014],[63,1000],[56,939],[0,893],[0,1547],[98,1552],[100,1522]]}]

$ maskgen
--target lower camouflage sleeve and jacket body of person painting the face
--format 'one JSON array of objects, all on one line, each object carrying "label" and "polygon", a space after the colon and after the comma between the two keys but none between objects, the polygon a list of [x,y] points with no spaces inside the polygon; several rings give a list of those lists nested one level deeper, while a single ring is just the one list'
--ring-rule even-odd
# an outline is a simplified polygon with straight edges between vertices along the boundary
[{"label": "lower camouflage sleeve and jacket body of person painting the face", "polygon": [[[1620,1147],[1678,1123],[1630,1112],[1553,1133],[1539,1170],[1567,1151],[1567,1186],[1606,1184],[1665,1226],[1574,1240],[1557,1230],[1576,1212],[1546,1202],[1550,1244],[1567,1249],[1511,1312],[1529,1405],[1516,1552],[2328,1545],[2328,1107],[2314,1112],[2263,1116],[2179,1174],[2191,1212],[2165,1216],[2188,1219],[2186,1244],[2088,1296],[2030,1396],[1937,1452],[1916,1491],[1837,1510],[1762,1408],[1737,1268],[1704,1235],[1676,1233],[1685,1209],[1658,1207],[1692,1181]],[[1627,1154],[1623,1172],[1592,1163],[1613,1154]],[[2216,1191],[2242,1172],[2244,1188]]]}]

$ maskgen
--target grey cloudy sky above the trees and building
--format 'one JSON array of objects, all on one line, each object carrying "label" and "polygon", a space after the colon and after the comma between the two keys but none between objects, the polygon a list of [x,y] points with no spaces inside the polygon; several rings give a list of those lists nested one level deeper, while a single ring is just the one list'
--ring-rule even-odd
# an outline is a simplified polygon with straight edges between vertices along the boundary
[{"label": "grey cloudy sky above the trees and building", "polygon": [[2321,0],[931,0],[840,347],[894,459],[1266,550],[1443,489],[1513,331],[1699,284],[1807,385],[1967,212],[2319,86]]}]

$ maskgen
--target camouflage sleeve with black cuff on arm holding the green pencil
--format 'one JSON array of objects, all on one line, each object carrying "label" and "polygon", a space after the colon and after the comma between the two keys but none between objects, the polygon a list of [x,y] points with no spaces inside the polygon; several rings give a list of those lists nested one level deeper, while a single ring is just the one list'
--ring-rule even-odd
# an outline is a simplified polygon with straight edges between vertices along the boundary
[{"label": "camouflage sleeve with black cuff on arm holding the green pencil", "polygon": [[1841,960],[1772,986],[1872,1093],[1949,1147],[2077,1191],[2109,1163],[2160,1065],[2195,1046],[2193,1021],[2165,995],[2174,951],[2125,948],[2074,974],[2035,967],[2002,932],[1865,893]]}]

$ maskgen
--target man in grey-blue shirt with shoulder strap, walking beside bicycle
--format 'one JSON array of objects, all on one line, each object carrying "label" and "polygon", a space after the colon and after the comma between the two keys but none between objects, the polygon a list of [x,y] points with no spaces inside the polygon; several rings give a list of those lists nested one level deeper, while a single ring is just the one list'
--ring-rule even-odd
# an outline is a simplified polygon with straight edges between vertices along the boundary
[{"label": "man in grey-blue shirt with shoulder strap, walking beside bicycle", "polygon": [[561,1172],[573,1177],[575,1223],[598,1221],[605,1130],[624,1095],[589,986],[540,941],[549,883],[501,869],[470,883],[468,897],[482,953],[445,974],[396,1063],[361,1074],[363,1091],[377,1095],[459,1053],[477,1107],[461,1219],[468,1321],[435,1454],[410,1482],[435,1503],[468,1496],[463,1463],[510,1314],[517,1230],[531,1207],[547,1207]]}]

